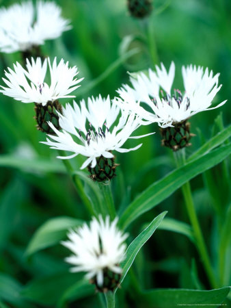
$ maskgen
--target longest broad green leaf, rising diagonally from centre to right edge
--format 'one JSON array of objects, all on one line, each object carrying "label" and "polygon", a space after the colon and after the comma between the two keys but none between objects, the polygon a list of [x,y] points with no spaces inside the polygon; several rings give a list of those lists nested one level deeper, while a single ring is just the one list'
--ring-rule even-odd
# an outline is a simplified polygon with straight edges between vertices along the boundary
[{"label": "longest broad green leaf, rising diagonally from centre to right edge", "polygon": [[200,173],[219,164],[228,155],[230,155],[231,144],[221,146],[219,149],[199,157],[172,171],[163,179],[150,185],[135,200],[128,205],[122,216],[120,217],[120,227],[125,229],[133,220],[152,209],[155,205],[161,203],[183,184]]}]

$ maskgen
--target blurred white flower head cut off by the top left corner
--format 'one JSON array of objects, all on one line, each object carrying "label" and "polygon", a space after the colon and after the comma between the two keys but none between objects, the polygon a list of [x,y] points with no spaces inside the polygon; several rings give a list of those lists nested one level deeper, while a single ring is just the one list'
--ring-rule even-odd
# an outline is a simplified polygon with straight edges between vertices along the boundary
[{"label": "blurred white flower head cut off by the top left corner", "polygon": [[36,8],[32,1],[16,3],[0,9],[0,50],[26,51],[68,29],[69,21],[62,18],[61,9],[54,2],[38,1]]}]

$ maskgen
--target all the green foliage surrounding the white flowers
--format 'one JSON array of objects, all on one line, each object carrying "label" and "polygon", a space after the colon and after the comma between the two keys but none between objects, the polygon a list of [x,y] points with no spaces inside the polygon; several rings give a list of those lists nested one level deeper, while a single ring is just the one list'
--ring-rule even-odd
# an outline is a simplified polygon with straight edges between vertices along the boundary
[{"label": "all the green foliage surrounding the white flowers", "polygon": [[[14,2],[1,0],[0,5]],[[124,0],[56,2],[72,29],[47,41],[42,52],[78,66],[79,77],[85,79],[74,92],[77,101],[99,93],[113,98],[128,82],[127,71],[147,70],[159,62],[168,66],[172,60],[177,67],[193,63],[220,72],[218,101],[230,99],[229,1],[157,0],[152,14],[141,21],[128,15]],[[16,61],[21,61],[20,53],[1,53],[1,77]],[[177,74],[176,82],[182,84]],[[118,175],[110,189],[100,189],[85,170],[79,171],[81,157],[71,159],[66,172],[68,166],[56,159],[55,151],[39,143],[45,136],[36,130],[33,104],[1,95],[0,307],[229,305],[228,104],[223,114],[213,110],[190,119],[197,136],[183,166],[175,167],[172,152],[161,147],[157,126],[141,127],[140,135],[157,133],[138,151],[118,153]],[[211,290],[195,249],[197,240],[180,192],[188,181],[216,290]],[[98,212],[117,214],[120,228],[130,234],[121,289],[105,298],[95,294],[82,273],[69,272],[67,251],[59,244],[70,228]]]}]

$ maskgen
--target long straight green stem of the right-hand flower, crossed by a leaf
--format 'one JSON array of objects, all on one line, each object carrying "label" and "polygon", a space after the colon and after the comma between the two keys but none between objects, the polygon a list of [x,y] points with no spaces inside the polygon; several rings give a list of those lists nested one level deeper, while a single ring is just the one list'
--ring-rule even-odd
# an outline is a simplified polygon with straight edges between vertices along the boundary
[{"label": "long straight green stem of the right-hand flower, crossed by a leaf", "polygon": [[[176,158],[176,163],[178,166],[185,164],[185,149],[177,151],[175,158]],[[195,206],[193,203],[193,197],[191,194],[191,187],[190,187],[189,182],[182,185],[182,193],[185,198],[185,205],[186,205],[187,212],[189,215],[189,220],[191,222],[191,226],[193,227],[193,233],[195,236],[195,243],[196,243],[196,247],[198,248],[198,253],[200,254],[202,263],[204,264],[204,269],[206,270],[206,274],[210,281],[210,285],[213,288],[216,288],[217,283],[216,283],[215,276],[213,273],[213,268],[210,264],[210,259],[208,257],[206,244],[204,242],[202,231],[200,229],[200,224],[198,222],[198,217],[196,215]]]}]

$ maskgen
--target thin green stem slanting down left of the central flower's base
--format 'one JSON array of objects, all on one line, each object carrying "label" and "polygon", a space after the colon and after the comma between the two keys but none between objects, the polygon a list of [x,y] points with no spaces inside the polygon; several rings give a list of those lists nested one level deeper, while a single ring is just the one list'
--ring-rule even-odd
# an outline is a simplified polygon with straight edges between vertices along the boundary
[{"label": "thin green stem slanting down left of the central flower's base", "polygon": [[[57,150],[60,156],[63,156],[64,153],[62,153],[62,151]],[[81,198],[81,200],[83,201],[83,204],[85,205],[85,207],[87,208],[87,211],[89,211],[89,213],[94,216],[94,209],[92,208],[92,204],[90,203],[89,199],[87,198],[85,191],[83,189],[83,184],[81,182],[81,180],[79,179],[79,177],[77,175],[72,175],[73,174],[73,167],[72,164],[70,164],[70,161],[68,159],[62,159],[62,162],[64,164],[64,166],[66,167],[66,170],[68,171],[69,175],[72,176],[72,181],[74,183],[74,187],[76,188],[77,192],[79,193],[79,196]]]}]

